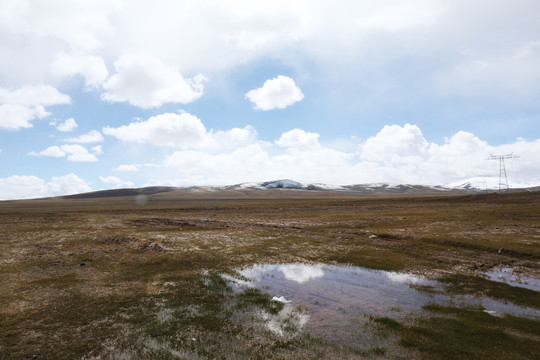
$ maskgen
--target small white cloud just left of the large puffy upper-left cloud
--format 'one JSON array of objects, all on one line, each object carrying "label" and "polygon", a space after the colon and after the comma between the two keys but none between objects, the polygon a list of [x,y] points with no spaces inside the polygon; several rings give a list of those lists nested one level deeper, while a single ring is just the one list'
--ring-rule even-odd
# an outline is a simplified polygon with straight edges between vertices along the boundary
[{"label": "small white cloud just left of the large puffy upper-left cloud", "polygon": [[98,88],[109,76],[103,58],[95,55],[59,53],[51,65],[51,71],[58,77],[81,75],[86,89]]}]

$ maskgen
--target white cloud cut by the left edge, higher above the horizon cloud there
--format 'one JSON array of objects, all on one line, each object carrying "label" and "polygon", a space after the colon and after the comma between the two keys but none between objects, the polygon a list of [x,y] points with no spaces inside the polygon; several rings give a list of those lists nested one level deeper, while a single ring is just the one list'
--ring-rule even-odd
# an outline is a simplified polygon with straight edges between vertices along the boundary
[{"label": "white cloud cut by the left edge, higher above the horizon cloud there", "polygon": [[31,128],[31,121],[50,115],[45,106],[70,102],[68,95],[49,85],[24,86],[16,90],[0,87],[0,129]]}]

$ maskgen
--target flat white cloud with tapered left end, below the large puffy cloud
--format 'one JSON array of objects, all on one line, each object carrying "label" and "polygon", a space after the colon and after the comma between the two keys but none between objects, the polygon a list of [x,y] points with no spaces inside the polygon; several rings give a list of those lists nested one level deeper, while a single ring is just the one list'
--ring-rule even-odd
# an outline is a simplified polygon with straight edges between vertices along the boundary
[{"label": "flat white cloud with tapered left end, below the large puffy cloud", "polygon": [[103,133],[121,141],[187,148],[205,141],[206,128],[199,118],[191,114],[165,113],[118,128],[107,126]]}]

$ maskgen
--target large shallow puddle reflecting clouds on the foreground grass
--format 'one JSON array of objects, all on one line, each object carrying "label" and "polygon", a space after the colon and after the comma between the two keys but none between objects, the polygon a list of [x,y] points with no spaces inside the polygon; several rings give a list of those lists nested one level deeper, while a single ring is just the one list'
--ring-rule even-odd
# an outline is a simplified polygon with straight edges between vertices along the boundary
[{"label": "large shallow puddle reflecting clouds on the foreground grass", "polygon": [[[421,313],[435,302],[453,306],[483,306],[490,314],[508,313],[540,319],[540,311],[472,296],[448,296],[419,291],[414,285],[442,285],[426,277],[353,266],[266,264],[224,276],[237,291],[258,288],[284,304],[278,314],[261,312],[259,319],[274,333],[291,328],[344,344],[377,343],[369,316],[403,319]],[[371,338],[370,338],[371,336]]]}]

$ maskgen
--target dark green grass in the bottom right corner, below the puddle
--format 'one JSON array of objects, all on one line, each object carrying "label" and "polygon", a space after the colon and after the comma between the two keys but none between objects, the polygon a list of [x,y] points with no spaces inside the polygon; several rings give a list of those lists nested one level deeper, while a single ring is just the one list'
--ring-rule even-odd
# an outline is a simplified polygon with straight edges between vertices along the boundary
[{"label": "dark green grass in the bottom right corner, below the puddle", "polygon": [[425,359],[538,359],[540,322],[513,316],[495,317],[481,308],[427,304],[413,325],[388,318],[373,320],[397,331],[399,344]]}]

